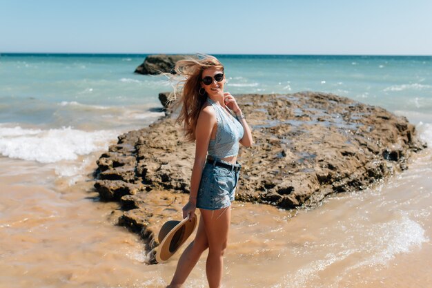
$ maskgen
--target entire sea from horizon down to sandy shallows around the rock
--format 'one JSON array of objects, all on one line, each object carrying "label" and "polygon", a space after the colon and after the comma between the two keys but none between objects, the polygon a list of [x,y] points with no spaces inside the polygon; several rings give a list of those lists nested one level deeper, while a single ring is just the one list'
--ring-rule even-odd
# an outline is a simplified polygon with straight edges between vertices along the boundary
[{"label": "entire sea from horizon down to sandy shallows around the rock", "polygon": [[[404,115],[429,144],[407,171],[313,209],[235,203],[225,287],[430,287],[432,57],[215,56],[233,95],[334,93]],[[117,136],[164,115],[166,77],[133,73],[145,57],[0,54],[0,287],[170,281],[179,256],[145,265],[92,190]],[[204,256],[186,287],[206,287]]]}]

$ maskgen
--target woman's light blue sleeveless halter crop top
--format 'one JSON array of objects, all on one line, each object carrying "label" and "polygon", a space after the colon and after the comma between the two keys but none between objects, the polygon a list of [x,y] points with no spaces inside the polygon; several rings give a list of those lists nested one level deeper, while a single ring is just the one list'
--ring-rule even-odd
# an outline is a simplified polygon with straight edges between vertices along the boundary
[{"label": "woman's light blue sleeveless halter crop top", "polygon": [[228,115],[228,111],[212,99],[207,102],[213,106],[216,112],[217,131],[215,139],[208,143],[208,155],[213,159],[222,159],[235,156],[239,153],[239,141],[242,139],[244,130],[242,124]]}]

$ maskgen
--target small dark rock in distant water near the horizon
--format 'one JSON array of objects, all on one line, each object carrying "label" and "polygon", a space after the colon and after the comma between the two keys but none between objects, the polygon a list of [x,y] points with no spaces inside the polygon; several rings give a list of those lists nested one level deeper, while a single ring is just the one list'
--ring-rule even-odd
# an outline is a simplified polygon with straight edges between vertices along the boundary
[{"label": "small dark rock in distant water near the horizon", "polygon": [[173,73],[175,63],[184,59],[187,55],[148,55],[143,64],[135,69],[135,73],[145,75],[158,75],[163,73]]}]

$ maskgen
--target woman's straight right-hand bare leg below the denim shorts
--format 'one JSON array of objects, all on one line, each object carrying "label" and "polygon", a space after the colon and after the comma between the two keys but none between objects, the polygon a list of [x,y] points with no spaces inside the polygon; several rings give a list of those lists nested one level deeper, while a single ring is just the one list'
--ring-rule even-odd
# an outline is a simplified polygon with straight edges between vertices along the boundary
[{"label": "woman's straight right-hand bare leg below the denim shorts", "polygon": [[231,207],[211,211],[201,209],[208,240],[206,274],[210,288],[218,288],[224,271],[224,252],[228,244],[228,231],[231,221]]}]

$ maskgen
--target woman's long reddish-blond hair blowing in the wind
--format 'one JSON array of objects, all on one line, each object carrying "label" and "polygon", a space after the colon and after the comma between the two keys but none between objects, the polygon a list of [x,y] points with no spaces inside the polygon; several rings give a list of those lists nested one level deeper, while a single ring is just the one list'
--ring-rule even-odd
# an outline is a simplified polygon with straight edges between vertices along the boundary
[{"label": "woman's long reddish-blond hair blowing in the wind", "polygon": [[199,112],[207,100],[207,93],[199,94],[201,88],[202,71],[208,68],[218,68],[222,71],[224,66],[210,55],[198,55],[197,58],[179,60],[175,64],[175,77],[180,80],[174,89],[176,99],[175,106],[181,105],[181,111],[177,122],[182,122],[186,138],[195,141],[195,128],[197,126]]}]

